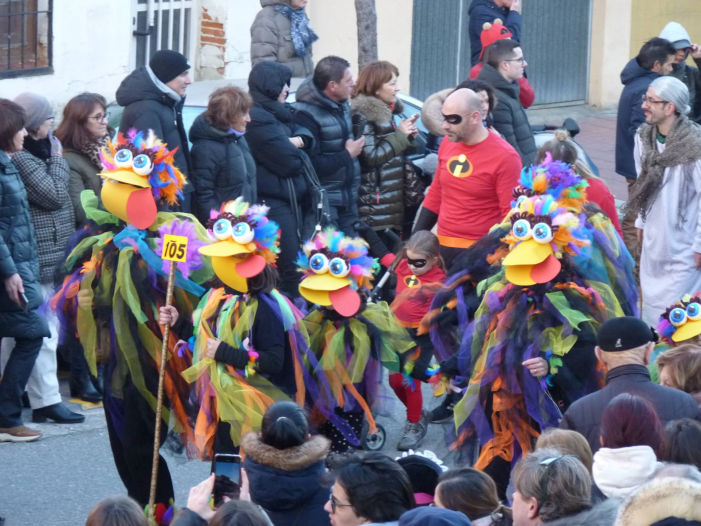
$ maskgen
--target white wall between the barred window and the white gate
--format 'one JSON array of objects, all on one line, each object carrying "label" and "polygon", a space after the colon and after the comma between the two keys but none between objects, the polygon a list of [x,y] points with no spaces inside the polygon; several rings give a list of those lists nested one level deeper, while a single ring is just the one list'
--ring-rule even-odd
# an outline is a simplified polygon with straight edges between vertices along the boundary
[{"label": "white wall between the barred window and the white gate", "polygon": [[2,79],[0,96],[13,99],[32,91],[48,98],[57,110],[83,91],[114,100],[116,88],[130,71],[131,17],[129,0],[55,0],[54,73]]}]

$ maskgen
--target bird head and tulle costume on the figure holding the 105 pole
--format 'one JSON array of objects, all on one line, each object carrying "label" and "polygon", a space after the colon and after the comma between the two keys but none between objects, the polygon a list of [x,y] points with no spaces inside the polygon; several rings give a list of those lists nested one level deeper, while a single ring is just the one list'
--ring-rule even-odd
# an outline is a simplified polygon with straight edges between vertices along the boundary
[{"label": "bird head and tulle costume on the figure holding the 105 pole", "polygon": [[[315,358],[309,352],[302,314],[278,290],[248,291],[250,279],[273,264],[279,251],[278,224],[268,220],[268,207],[249,205],[238,198],[212,210],[207,227],[212,243],[200,252],[210,256],[217,277],[225,286],[212,288],[203,296],[193,315],[195,337],[191,340],[193,366],[184,372],[189,382],[196,382],[200,410],[196,419],[196,445],[200,457],[210,459],[214,452],[232,452],[222,447],[238,447],[243,434],[260,429],[265,410],[278,400],[295,400],[304,407],[307,386],[313,386],[308,371]],[[291,382],[280,382],[261,370],[256,349],[257,313],[270,309],[271,325],[262,330],[284,333],[285,361],[283,375]],[[247,353],[247,364],[208,358],[207,339],[217,338],[233,349]],[[312,387],[311,394],[315,395]],[[222,426],[224,424],[228,424]],[[229,431],[222,440],[221,429]]]}]

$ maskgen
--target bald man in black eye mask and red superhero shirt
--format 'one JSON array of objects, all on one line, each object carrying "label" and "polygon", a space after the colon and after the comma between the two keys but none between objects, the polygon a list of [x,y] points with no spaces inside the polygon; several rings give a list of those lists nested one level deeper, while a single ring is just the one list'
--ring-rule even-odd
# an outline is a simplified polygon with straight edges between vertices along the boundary
[{"label": "bald man in black eye mask and red superhero shirt", "polygon": [[503,220],[521,173],[521,157],[484,128],[480,109],[479,97],[467,88],[455,90],[443,103],[447,140],[438,149],[438,168],[414,228],[430,230],[438,222],[447,268],[462,249]]}]

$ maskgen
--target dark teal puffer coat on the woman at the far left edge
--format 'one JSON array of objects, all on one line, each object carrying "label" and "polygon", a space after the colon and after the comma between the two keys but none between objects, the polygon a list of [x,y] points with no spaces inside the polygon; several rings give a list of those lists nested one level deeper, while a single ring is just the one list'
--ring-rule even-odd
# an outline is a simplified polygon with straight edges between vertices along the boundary
[{"label": "dark teal puffer coat on the woman at the far left edge", "polygon": [[[4,281],[13,274],[22,278],[29,302],[27,313],[10,299],[5,288]],[[43,297],[27,191],[17,167],[4,151],[0,151],[0,278],[0,337],[50,336],[46,320],[36,313]]]}]

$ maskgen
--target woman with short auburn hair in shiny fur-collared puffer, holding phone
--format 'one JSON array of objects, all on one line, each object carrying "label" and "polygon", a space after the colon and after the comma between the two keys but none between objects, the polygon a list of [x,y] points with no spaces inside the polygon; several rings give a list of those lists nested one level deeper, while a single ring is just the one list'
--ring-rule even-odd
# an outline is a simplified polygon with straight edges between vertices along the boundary
[{"label": "woman with short auburn hair in shiny fur-collared puffer, holding phone", "polygon": [[[404,107],[397,99],[399,70],[390,62],[370,62],[358,75],[351,100],[354,128],[365,146],[360,161],[360,219],[374,230],[400,231],[404,222],[404,156],[416,145],[416,117],[395,123]],[[411,218],[413,219],[413,218]]]}]

